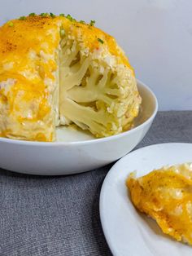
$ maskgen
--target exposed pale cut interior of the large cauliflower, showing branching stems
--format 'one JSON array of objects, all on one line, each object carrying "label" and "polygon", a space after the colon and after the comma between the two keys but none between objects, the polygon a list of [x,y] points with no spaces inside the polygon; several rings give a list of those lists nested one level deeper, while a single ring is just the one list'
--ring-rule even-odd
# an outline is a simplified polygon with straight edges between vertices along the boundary
[{"label": "exposed pale cut interior of the large cauliflower, showing branching stems", "polygon": [[116,135],[133,125],[140,104],[133,70],[119,64],[104,42],[90,51],[66,34],[59,63],[61,124],[73,122],[97,137]]}]

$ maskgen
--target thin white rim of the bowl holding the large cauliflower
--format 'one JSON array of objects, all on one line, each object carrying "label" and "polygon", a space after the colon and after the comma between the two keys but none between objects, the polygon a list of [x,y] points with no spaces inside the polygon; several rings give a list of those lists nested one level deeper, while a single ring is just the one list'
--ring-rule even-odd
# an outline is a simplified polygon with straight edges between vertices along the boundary
[{"label": "thin white rim of the bowl holding the large cauliflower", "polygon": [[147,124],[149,124],[156,116],[156,113],[158,111],[158,101],[157,98],[154,94],[154,92],[148,87],[146,86],[145,83],[143,83],[142,81],[137,79],[137,84],[139,86],[144,87],[146,90],[148,90],[148,92],[152,95],[153,99],[154,99],[154,103],[155,103],[155,108],[153,113],[151,114],[150,117],[148,117],[146,119],[146,121],[142,122],[142,124],[134,127],[131,130],[127,130],[124,131],[122,133],[120,133],[119,135],[111,135],[108,137],[104,137],[104,138],[98,138],[98,139],[88,139],[88,140],[82,140],[82,141],[72,141],[72,142],[41,142],[41,141],[29,141],[29,140],[22,140],[22,139],[8,139],[8,138],[3,138],[0,137],[0,143],[11,143],[11,144],[20,144],[20,145],[30,145],[30,146],[51,146],[51,147],[57,147],[57,146],[77,146],[77,145],[87,145],[87,144],[93,144],[93,143],[103,143],[103,142],[107,142],[109,140],[113,140],[113,139],[120,139],[121,137],[124,137],[126,135],[131,135],[133,132],[135,132],[136,130],[141,130],[143,126],[146,126]]}]

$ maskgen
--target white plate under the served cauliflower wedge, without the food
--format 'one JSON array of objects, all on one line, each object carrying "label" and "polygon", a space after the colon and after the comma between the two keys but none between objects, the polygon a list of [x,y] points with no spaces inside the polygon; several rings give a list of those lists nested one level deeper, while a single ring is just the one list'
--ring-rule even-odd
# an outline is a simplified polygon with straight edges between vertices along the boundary
[{"label": "white plate under the served cauliflower wedge, without the food", "polygon": [[111,168],[100,196],[100,217],[115,256],[191,256],[192,248],[173,241],[158,225],[134,209],[125,186],[130,172],[137,176],[165,165],[192,161],[191,143],[164,143],[140,148]]}]

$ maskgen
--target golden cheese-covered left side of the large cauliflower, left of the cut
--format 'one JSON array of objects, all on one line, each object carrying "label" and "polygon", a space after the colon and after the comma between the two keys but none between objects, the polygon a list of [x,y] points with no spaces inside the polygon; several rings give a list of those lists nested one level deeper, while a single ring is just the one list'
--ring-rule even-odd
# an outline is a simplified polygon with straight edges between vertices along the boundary
[{"label": "golden cheese-covered left side of the large cauliflower, left of the cut", "polygon": [[[40,16],[11,20],[0,29],[1,136],[43,141],[55,139],[51,94],[57,86],[55,60],[58,58],[56,49],[61,22],[49,20]],[[15,83],[7,85],[10,90],[6,93],[2,84],[8,79]],[[2,104],[1,99],[4,100]],[[5,101],[7,108],[2,106]]]}]

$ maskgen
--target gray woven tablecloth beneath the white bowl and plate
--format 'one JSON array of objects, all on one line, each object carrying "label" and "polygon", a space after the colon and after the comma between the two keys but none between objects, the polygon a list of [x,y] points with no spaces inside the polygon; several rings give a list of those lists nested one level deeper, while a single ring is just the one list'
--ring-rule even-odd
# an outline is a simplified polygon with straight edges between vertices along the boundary
[{"label": "gray woven tablecloth beneath the white bowl and plate", "polygon": [[[158,113],[137,148],[166,142],[192,143],[192,112]],[[0,170],[0,255],[111,255],[98,210],[110,168],[62,177]]]}]

